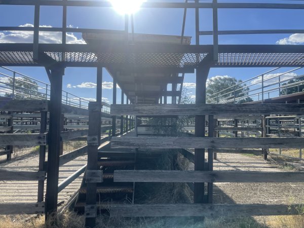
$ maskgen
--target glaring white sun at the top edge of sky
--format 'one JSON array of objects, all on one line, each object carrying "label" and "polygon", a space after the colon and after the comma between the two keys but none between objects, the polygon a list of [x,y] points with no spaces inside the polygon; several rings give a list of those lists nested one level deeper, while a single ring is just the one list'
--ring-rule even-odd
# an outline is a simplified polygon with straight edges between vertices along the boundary
[{"label": "glaring white sun at the top edge of sky", "polygon": [[119,14],[134,14],[140,9],[144,0],[110,0],[110,2]]}]

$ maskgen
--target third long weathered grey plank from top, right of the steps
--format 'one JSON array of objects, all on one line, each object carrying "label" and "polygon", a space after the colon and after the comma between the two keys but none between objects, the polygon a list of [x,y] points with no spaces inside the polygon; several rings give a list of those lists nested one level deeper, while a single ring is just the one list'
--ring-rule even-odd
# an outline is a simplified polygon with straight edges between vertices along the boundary
[{"label": "third long weathered grey plank from top, right of the steps", "polygon": [[304,182],[304,172],[115,170],[114,182]]}]

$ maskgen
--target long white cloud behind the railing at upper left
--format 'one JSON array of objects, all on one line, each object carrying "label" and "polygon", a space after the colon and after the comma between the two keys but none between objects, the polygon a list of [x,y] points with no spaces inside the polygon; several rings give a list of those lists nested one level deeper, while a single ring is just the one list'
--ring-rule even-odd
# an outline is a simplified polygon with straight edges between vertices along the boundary
[{"label": "long white cloud behind the railing at upper left", "polygon": [[[19,27],[33,27],[32,24],[19,25]],[[41,27],[52,27],[42,25]],[[39,42],[42,44],[60,44],[62,39],[61,32],[39,32]],[[33,43],[32,31],[4,31],[0,33],[0,43]],[[73,33],[66,33],[67,44],[86,44],[83,39],[78,39]]]}]

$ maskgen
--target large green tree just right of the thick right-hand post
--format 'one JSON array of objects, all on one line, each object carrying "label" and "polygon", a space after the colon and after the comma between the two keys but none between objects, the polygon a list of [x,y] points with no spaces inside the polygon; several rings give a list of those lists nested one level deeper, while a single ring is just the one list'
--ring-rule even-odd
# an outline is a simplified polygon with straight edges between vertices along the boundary
[{"label": "large green tree just right of the thick right-hand post", "polygon": [[[208,80],[206,88],[207,103],[219,103],[234,100],[236,98],[248,96],[248,88],[246,84],[242,84],[242,80],[237,80],[229,76],[216,76]],[[237,103],[245,103],[252,101],[246,97],[236,99]]]}]

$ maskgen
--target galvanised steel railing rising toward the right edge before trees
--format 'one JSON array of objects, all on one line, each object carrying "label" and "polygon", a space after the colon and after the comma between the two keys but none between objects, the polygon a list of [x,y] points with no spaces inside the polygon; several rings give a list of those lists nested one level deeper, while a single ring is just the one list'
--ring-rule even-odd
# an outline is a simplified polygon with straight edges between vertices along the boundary
[{"label": "galvanised steel railing rising toward the right edge before trees", "polygon": [[[304,80],[290,83],[292,80],[300,79],[304,77],[304,74],[294,75],[294,77],[288,77],[288,79],[282,80],[286,74],[299,70],[302,67],[293,68],[283,73],[274,73],[273,77],[267,78],[269,73],[280,69],[279,67],[259,74],[244,82],[238,83],[234,86],[226,88],[222,91],[214,93],[206,97],[207,103],[244,103],[248,101],[258,101],[262,103],[264,99],[273,97],[280,97],[288,94],[288,89],[296,87],[296,92],[299,91],[299,87],[304,85]],[[247,85],[248,84],[248,85]],[[283,85],[284,84],[284,85]],[[267,88],[267,89],[266,89]],[[270,95],[272,94],[272,96]]]}]

